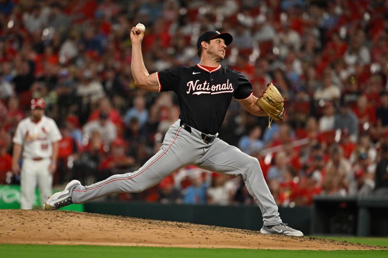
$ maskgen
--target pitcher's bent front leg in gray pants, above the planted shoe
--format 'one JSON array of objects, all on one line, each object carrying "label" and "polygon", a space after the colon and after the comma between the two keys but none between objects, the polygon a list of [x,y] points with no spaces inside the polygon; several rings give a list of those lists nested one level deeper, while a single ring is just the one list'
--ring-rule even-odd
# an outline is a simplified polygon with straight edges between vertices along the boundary
[{"label": "pitcher's bent front leg in gray pants, above the planted shoe", "polygon": [[221,139],[216,139],[196,166],[226,175],[241,176],[249,194],[255,198],[260,207],[264,225],[276,225],[282,222],[275,199],[264,180],[256,158]]}]

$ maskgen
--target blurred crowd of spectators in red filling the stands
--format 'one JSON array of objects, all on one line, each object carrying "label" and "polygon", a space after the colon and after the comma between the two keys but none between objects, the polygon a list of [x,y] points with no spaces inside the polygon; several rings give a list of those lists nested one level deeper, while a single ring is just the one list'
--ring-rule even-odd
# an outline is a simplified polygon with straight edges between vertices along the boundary
[{"label": "blurred crowd of spectators in red filling the stands", "polygon": [[[223,65],[259,96],[273,82],[286,119],[232,101],[220,137],[257,157],[276,202],[388,193],[386,0],[0,0],[0,183],[17,183],[12,137],[43,97],[61,129],[54,184],[136,170],[178,119],[174,93],[136,88],[129,31],[146,25],[149,73],[195,65],[203,31],[228,31]],[[122,200],[254,204],[240,178],[184,167]]]}]

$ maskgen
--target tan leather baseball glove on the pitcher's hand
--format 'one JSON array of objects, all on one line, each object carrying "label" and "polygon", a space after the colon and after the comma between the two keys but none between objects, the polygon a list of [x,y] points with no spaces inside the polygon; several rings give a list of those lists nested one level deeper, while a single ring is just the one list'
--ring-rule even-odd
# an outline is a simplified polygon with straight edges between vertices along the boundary
[{"label": "tan leather baseball glove on the pitcher's hand", "polygon": [[268,115],[268,128],[271,129],[272,120],[283,121],[286,113],[285,101],[286,99],[282,97],[272,82],[267,84],[267,89],[263,91],[256,105]]}]

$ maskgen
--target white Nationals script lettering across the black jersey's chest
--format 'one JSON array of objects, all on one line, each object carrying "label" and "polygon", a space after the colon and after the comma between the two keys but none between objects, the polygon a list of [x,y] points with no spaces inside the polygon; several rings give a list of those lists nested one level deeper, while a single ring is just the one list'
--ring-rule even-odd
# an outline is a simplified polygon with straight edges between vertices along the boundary
[{"label": "white Nationals script lettering across the black jersey's chest", "polygon": [[193,95],[200,95],[200,94],[220,94],[220,93],[226,93],[226,92],[233,92],[233,85],[229,83],[229,79],[226,80],[226,83],[223,84],[216,84],[211,85],[208,81],[204,81],[203,83],[198,83],[199,80],[189,81],[187,83],[187,89],[186,93],[189,94],[190,91],[193,92]]}]

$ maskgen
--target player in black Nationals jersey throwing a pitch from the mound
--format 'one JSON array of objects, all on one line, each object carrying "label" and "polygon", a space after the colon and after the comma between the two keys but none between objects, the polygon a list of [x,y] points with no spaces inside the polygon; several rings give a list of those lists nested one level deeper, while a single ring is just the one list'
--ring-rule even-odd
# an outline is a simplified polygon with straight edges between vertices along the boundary
[{"label": "player in black Nationals jersey throwing a pitch from the mound", "polygon": [[[82,186],[77,180],[46,202],[46,209],[58,209],[71,203],[84,203],[113,193],[136,193],[156,185],[180,167],[197,167],[230,176],[242,177],[262,212],[264,234],[303,236],[280,219],[274,198],[264,180],[259,161],[218,137],[232,98],[252,115],[284,117],[284,100],[268,85],[265,97],[252,94],[252,85],[241,73],[220,65],[232,35],[206,31],[197,41],[200,61],[192,67],[180,66],[165,72],[148,74],[142,56],[144,30],[133,27],[132,75],[135,84],[146,91],[174,91],[178,95],[180,115],[164,137],[162,147],[146,164],[134,172]],[[277,91],[277,92],[276,92]],[[272,93],[273,92],[273,93]],[[276,101],[275,101],[276,100]],[[264,101],[266,104],[261,103]],[[271,107],[274,108],[260,108]],[[276,110],[276,111],[274,111]]]}]

